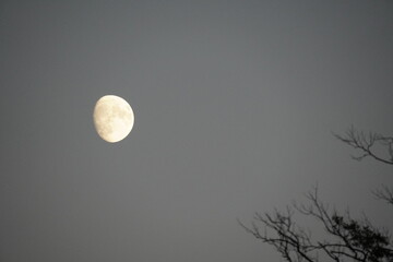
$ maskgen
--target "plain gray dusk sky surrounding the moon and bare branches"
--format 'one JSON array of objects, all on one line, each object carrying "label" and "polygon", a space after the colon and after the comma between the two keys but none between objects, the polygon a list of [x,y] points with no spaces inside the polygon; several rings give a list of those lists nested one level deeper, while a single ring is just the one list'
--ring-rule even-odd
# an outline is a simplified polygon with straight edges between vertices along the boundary
[{"label": "plain gray dusk sky surrounding the moon and bare branches", "polygon": [[236,219],[315,182],[393,229],[392,169],[331,133],[393,133],[392,32],[392,1],[1,1],[0,260],[281,261]]}]

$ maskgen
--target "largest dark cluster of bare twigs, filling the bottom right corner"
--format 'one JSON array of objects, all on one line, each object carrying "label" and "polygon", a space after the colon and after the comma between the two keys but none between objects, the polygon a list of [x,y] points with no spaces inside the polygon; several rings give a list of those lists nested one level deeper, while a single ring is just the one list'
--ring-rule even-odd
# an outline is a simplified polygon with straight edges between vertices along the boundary
[{"label": "largest dark cluster of bare twigs, filling the bottom right corner", "polygon": [[[255,214],[251,227],[239,224],[255,238],[273,246],[286,261],[393,261],[393,246],[388,233],[374,228],[367,219],[355,221],[340,215],[318,198],[318,188],[307,195],[308,205],[294,204],[285,213]],[[329,234],[324,240],[311,239],[311,234],[297,226],[295,212],[319,222]],[[263,225],[261,231],[260,224]],[[323,257],[324,254],[324,257]],[[323,259],[322,259],[323,258]]]}]

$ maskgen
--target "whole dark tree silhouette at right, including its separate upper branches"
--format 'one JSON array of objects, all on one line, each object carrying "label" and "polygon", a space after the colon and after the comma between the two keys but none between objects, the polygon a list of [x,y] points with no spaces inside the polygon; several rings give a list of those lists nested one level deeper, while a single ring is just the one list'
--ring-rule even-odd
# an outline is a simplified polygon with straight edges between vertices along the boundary
[{"label": "whole dark tree silhouette at right, including its separate upper branches", "polygon": [[[345,135],[335,136],[361,152],[354,157],[361,160],[370,156],[378,162],[393,164],[393,138],[377,133],[365,134],[350,128]],[[377,155],[377,144],[388,148],[389,157]],[[386,186],[376,190],[373,195],[386,201],[393,207],[393,191]],[[319,199],[318,187],[306,194],[306,204],[293,204],[285,212],[255,213],[251,226],[238,221],[247,233],[262,242],[273,246],[289,262],[361,261],[393,262],[393,243],[388,230],[379,229],[364,217],[354,219],[349,212],[340,214]],[[325,231],[323,240],[311,237],[311,231],[298,226],[294,215],[314,219]]]}]

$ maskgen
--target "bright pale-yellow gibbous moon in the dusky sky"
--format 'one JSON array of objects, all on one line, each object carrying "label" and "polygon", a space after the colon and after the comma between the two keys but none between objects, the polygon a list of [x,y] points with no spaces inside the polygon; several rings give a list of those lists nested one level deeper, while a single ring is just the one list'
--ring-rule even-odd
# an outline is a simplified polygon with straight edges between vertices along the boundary
[{"label": "bright pale-yellow gibbous moon in the dusky sky", "polygon": [[93,120],[98,135],[109,143],[116,143],[126,139],[131,132],[134,114],[123,98],[106,95],[97,100]]}]

